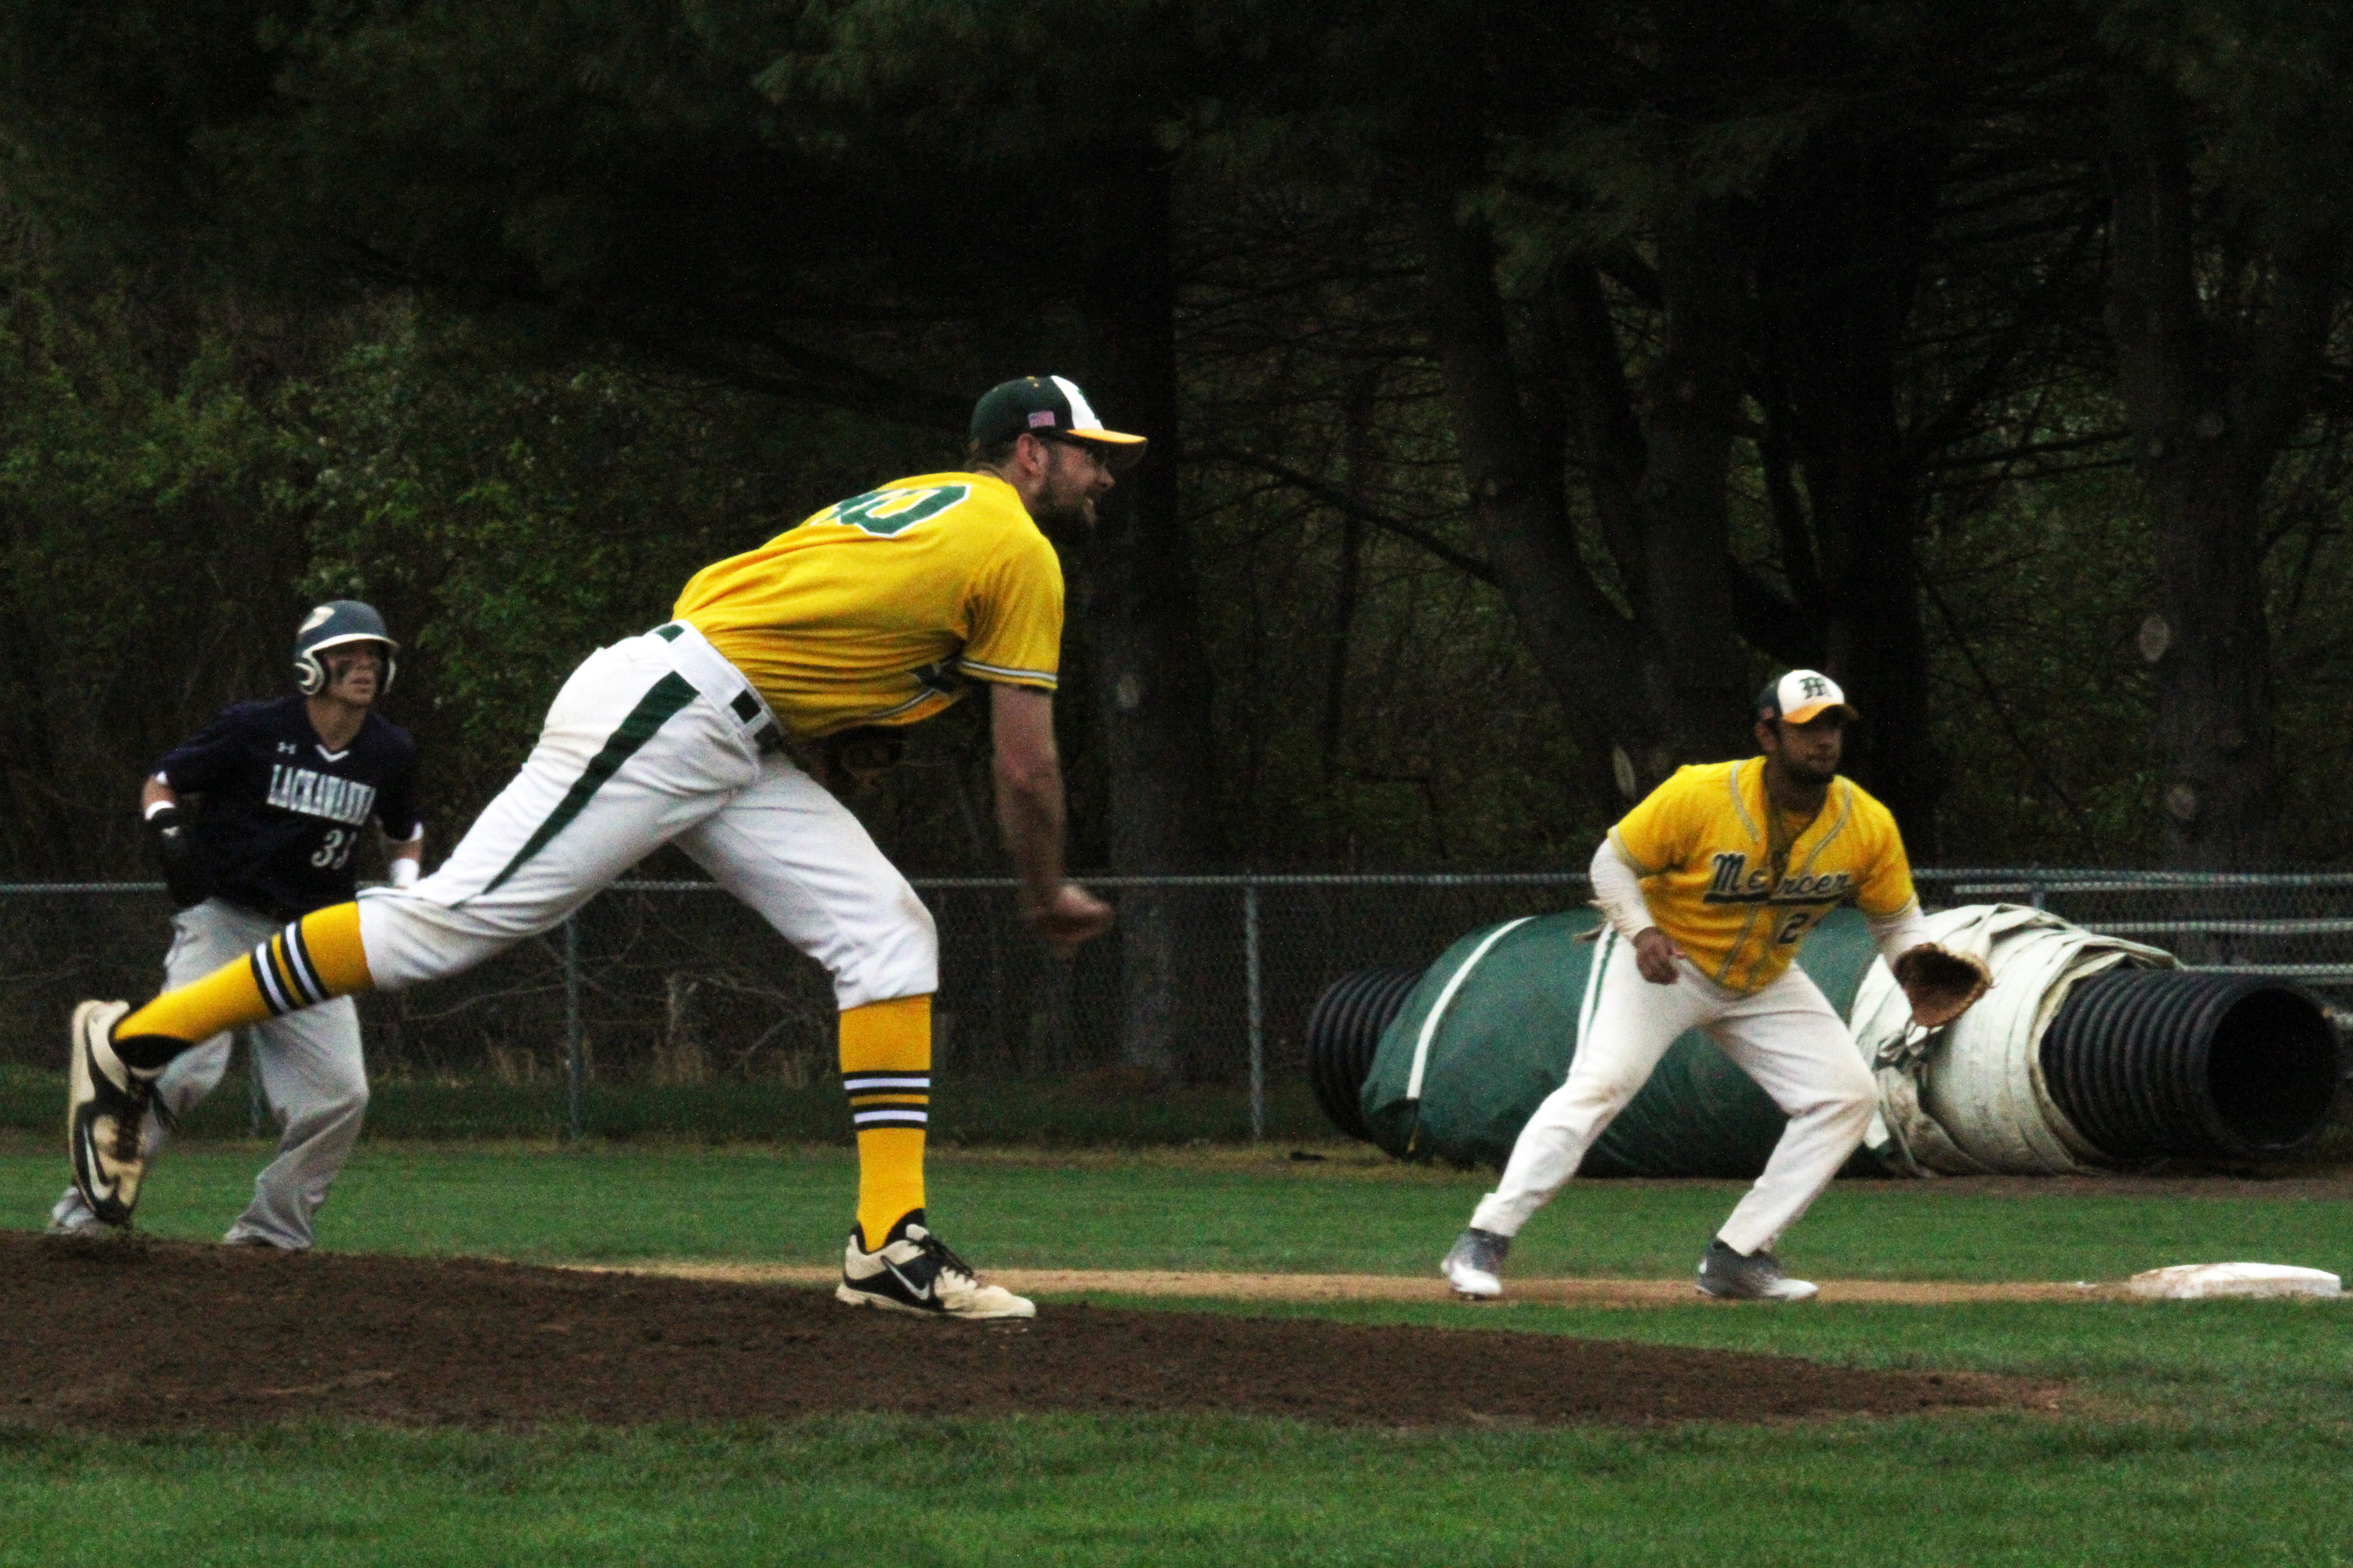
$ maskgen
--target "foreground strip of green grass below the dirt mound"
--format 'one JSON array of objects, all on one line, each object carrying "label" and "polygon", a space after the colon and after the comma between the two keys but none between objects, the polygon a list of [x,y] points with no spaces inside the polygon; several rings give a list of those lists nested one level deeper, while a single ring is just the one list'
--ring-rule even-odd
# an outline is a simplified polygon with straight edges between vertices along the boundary
[{"label": "foreground strip of green grass below the dirt mound", "polygon": [[0,1563],[2353,1561],[2353,1443],[2031,1418],[1337,1434],[1254,1420],[16,1441]]}]

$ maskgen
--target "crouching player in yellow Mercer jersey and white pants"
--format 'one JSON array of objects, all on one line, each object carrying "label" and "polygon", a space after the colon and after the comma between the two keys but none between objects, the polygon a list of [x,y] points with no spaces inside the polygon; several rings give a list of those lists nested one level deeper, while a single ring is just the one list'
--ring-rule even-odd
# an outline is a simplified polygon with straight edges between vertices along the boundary
[{"label": "crouching player in yellow Mercer jersey and white pants", "polygon": [[1838,776],[1849,719],[1831,677],[1791,670],[1758,696],[1762,757],[1680,769],[1602,839],[1593,903],[1607,919],[1577,1056],[1440,1265],[1459,1295],[1504,1293],[1511,1237],[1685,1030],[1704,1030],[1788,1112],[1765,1173],[1701,1255],[1699,1288],[1814,1295],[1781,1274],[1774,1244],[1864,1140],[1875,1091],[1847,1025],[1791,959],[1849,900],[1889,964],[1929,940],[1894,818]]}]

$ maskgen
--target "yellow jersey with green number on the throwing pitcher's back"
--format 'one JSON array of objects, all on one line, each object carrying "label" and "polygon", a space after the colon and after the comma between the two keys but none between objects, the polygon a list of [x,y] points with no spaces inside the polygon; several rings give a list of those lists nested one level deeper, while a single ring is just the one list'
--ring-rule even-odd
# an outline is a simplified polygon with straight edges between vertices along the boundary
[{"label": "yellow jersey with green number on the throwing pitcher's back", "polygon": [[696,571],[673,614],[795,736],[929,719],[967,679],[1052,691],[1061,670],[1061,559],[984,473],[835,501]]}]

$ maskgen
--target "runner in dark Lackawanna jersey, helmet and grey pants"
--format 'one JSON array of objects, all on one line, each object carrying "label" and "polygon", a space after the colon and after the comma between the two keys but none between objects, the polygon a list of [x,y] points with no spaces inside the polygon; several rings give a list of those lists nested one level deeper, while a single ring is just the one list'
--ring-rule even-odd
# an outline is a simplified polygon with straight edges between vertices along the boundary
[{"label": "runner in dark Lackawanna jersey, helmet and grey pants", "polygon": [[[348,903],[353,856],[369,823],[391,842],[391,879],[416,882],[416,743],[372,712],[393,684],[398,651],[369,604],[320,604],[294,632],[301,696],[235,703],[155,766],[139,806],[181,905],[162,961],[167,990],[249,952],[289,919]],[[247,1051],[285,1131],[278,1159],[254,1178],[254,1201],[224,1241],[301,1251],[367,1112],[360,1013],[339,999],[266,1018],[247,1032]],[[155,1159],[165,1128],[195,1110],[224,1072],[226,1030],[155,1079],[141,1159]],[[96,1227],[94,1206],[66,1187],[49,1229]]]}]

